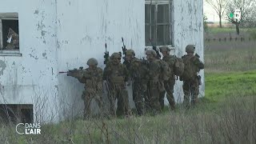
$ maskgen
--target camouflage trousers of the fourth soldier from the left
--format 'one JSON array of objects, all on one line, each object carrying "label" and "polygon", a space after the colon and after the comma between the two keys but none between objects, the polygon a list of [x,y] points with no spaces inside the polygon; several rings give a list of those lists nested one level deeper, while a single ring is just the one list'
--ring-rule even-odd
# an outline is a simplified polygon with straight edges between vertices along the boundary
[{"label": "camouflage trousers of the fourth soldier from the left", "polygon": [[145,98],[146,110],[153,112],[153,114],[158,114],[161,110],[159,103],[160,90],[158,87],[158,82],[150,81],[148,84],[148,90]]}]

